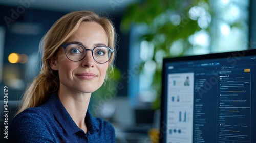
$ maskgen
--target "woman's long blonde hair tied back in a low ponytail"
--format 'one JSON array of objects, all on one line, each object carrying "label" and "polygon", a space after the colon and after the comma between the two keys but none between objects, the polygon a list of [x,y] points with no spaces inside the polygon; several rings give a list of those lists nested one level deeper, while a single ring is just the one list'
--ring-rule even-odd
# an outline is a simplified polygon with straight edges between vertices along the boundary
[{"label": "woman's long blonde hair tied back in a low ponytail", "polygon": [[[75,11],[64,15],[54,23],[40,41],[40,50],[42,51],[41,71],[25,91],[16,115],[27,108],[44,104],[48,101],[52,92],[59,90],[58,71],[51,69],[50,60],[56,58],[60,45],[65,43],[77,31],[81,22],[96,22],[101,25],[109,38],[108,46],[115,50],[116,33],[113,23],[108,18],[100,17],[91,11]],[[113,72],[114,58],[115,53],[109,60],[108,73]]]}]

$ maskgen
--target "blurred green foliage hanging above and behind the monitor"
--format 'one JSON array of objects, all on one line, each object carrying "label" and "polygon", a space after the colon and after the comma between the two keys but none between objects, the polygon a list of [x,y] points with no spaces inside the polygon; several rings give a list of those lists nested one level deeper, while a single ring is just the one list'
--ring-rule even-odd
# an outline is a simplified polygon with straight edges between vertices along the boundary
[{"label": "blurred green foliage hanging above and behind the monitor", "polygon": [[[154,45],[154,55],[149,59],[156,64],[151,84],[157,93],[153,109],[160,108],[162,58],[184,56],[188,51],[193,51],[189,37],[200,30],[209,31],[210,13],[208,0],[147,0],[131,4],[127,8],[122,18],[121,30],[127,32],[133,25],[144,25],[146,32],[137,42],[148,41]],[[208,19],[206,17],[204,22],[208,26],[200,25],[200,18],[205,15]],[[175,42],[179,42],[180,46],[174,47]],[[179,52],[172,52],[174,50]],[[146,62],[141,61],[141,67]]]}]

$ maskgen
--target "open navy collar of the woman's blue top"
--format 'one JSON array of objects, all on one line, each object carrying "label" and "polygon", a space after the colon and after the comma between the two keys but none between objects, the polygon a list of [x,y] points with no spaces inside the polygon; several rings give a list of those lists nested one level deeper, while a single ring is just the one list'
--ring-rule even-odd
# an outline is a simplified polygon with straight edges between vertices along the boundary
[{"label": "open navy collar of the woman's blue top", "polygon": [[[49,105],[51,111],[54,114],[55,120],[57,120],[60,123],[60,126],[66,131],[68,134],[74,134],[78,131],[82,131],[74,122],[74,120],[69,115],[66,108],[63,106],[61,101],[59,100],[59,97],[56,93],[53,93],[46,103]],[[94,118],[89,110],[87,110],[85,122],[88,128],[88,133],[94,134],[99,131],[97,126],[96,118]]]}]

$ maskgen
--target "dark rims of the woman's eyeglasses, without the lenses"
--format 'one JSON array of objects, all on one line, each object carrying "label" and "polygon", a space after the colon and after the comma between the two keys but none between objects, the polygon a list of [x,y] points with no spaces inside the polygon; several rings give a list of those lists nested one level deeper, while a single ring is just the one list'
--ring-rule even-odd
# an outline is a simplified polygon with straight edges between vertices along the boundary
[{"label": "dark rims of the woman's eyeglasses, without the lenses", "polygon": [[[86,47],[85,47],[84,45],[79,44],[79,43],[67,43],[67,44],[61,44],[60,46],[64,48],[64,50],[65,50],[65,55],[66,55],[66,57],[67,57],[69,60],[71,60],[71,59],[67,56],[67,53],[66,53],[66,47],[67,47],[68,45],[72,45],[72,44],[76,44],[76,45],[80,45],[80,46],[82,46],[82,47],[86,50],[86,52],[85,52],[86,54],[87,54],[87,51],[88,51],[88,50],[89,50],[89,51],[92,51],[92,56],[93,56],[93,50],[94,50],[96,47],[106,47],[106,48],[108,48],[108,49],[110,50],[110,52],[111,52],[111,55],[110,55],[110,57],[109,57],[108,61],[111,59],[111,57],[112,57],[112,53],[114,53],[114,49],[112,49],[111,47],[108,47],[108,46],[95,46],[93,49],[86,49]],[[86,57],[86,54],[84,54],[84,56],[82,57],[82,59],[83,59],[84,57]],[[78,61],[81,61],[82,59],[80,59],[80,60],[78,60]],[[97,62],[97,63],[100,63],[100,64],[103,64],[103,63],[108,62],[108,61],[103,62],[103,63],[98,62],[98,61],[96,61],[96,60],[95,60],[94,56],[93,56],[93,60],[94,60],[95,62]],[[74,60],[71,60],[71,61],[73,61],[73,62],[78,62],[78,61],[74,61]]]}]

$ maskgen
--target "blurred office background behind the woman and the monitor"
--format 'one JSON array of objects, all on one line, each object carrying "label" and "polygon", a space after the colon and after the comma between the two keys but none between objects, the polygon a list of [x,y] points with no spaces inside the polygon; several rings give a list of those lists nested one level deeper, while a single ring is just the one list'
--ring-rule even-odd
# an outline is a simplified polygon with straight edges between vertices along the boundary
[{"label": "blurred office background behind the woman and the monitor", "polygon": [[143,142],[158,128],[162,58],[255,48],[253,7],[252,0],[3,0],[1,89],[8,87],[10,101],[22,97],[40,69],[40,39],[58,18],[75,10],[107,15],[118,34],[115,76],[94,94],[90,110],[115,125],[120,142]]}]

